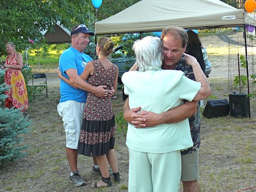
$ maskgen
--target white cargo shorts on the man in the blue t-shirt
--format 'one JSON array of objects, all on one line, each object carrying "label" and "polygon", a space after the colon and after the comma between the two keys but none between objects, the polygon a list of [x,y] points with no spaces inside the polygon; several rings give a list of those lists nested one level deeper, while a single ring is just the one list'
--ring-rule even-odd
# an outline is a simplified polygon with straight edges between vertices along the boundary
[{"label": "white cargo shorts on the man in the blue t-shirt", "polygon": [[59,103],[57,110],[62,116],[63,126],[66,132],[66,147],[77,149],[81,125],[84,117],[85,103],[65,101]]}]

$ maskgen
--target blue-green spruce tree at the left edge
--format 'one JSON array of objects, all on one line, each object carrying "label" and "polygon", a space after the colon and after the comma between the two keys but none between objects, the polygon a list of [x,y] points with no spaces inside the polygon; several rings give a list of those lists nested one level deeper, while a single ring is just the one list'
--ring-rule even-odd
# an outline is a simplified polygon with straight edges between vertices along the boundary
[{"label": "blue-green spruce tree at the left edge", "polygon": [[[0,69],[0,77],[3,76],[5,70]],[[15,161],[24,156],[26,145],[22,143],[23,134],[29,132],[31,120],[28,116],[24,116],[18,109],[3,108],[3,101],[6,98],[4,91],[8,87],[4,87],[5,83],[0,84],[0,166]]]}]

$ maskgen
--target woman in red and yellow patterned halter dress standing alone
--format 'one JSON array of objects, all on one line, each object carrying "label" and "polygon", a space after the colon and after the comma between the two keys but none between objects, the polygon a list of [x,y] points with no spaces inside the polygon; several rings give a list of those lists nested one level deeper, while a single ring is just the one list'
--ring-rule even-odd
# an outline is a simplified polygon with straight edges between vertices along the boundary
[{"label": "woman in red and yellow patterned halter dress standing alone", "polygon": [[24,77],[21,73],[22,69],[22,56],[15,50],[13,42],[6,44],[6,52],[8,56],[4,62],[4,68],[8,68],[5,72],[4,82],[7,85],[12,86],[10,90],[4,94],[8,96],[5,99],[5,107],[22,108],[21,111],[28,108],[28,94]]}]

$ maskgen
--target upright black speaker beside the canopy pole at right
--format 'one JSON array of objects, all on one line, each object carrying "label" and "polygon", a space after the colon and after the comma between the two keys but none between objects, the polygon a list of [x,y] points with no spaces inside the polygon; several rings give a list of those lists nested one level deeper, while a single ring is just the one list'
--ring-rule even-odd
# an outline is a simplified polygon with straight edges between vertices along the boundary
[{"label": "upright black speaker beside the canopy pole at right", "polygon": [[246,93],[229,94],[229,110],[230,116],[249,117],[250,103]]}]

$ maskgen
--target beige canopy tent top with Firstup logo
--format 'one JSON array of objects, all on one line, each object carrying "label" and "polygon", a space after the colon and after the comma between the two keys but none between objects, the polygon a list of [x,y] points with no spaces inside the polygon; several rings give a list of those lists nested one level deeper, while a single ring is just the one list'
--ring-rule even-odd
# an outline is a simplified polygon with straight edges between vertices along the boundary
[{"label": "beige canopy tent top with Firstup logo", "polygon": [[254,15],[219,0],[142,0],[96,22],[96,34],[144,33],[168,26],[206,29],[256,26]]}]

